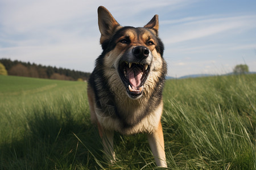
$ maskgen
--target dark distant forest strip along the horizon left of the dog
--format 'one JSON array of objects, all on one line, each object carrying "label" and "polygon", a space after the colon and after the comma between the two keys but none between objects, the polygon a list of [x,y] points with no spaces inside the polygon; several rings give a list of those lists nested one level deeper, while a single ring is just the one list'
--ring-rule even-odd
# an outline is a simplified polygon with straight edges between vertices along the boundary
[{"label": "dark distant forest strip along the horizon left of the dog", "polygon": [[52,66],[42,66],[30,62],[2,58],[0,63],[5,66],[8,75],[28,76],[34,78],[58,80],[88,80],[90,73]]}]

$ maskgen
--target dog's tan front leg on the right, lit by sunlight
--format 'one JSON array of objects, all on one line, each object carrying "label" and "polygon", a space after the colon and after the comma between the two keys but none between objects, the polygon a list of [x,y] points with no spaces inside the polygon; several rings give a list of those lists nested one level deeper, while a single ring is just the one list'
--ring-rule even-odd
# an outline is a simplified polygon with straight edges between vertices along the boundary
[{"label": "dog's tan front leg on the right, lit by sunlight", "polygon": [[147,135],[152,154],[158,167],[167,167],[166,154],[164,152],[164,139],[162,124],[159,122],[158,129]]}]

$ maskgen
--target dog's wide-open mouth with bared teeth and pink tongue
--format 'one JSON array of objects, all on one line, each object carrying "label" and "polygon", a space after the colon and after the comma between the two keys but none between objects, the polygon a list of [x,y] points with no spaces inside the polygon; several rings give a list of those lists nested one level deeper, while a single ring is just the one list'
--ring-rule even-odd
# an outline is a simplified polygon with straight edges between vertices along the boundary
[{"label": "dog's wide-open mouth with bared teeth and pink tongue", "polygon": [[119,65],[119,75],[131,97],[136,98],[142,94],[149,71],[150,65],[142,63],[122,62]]}]

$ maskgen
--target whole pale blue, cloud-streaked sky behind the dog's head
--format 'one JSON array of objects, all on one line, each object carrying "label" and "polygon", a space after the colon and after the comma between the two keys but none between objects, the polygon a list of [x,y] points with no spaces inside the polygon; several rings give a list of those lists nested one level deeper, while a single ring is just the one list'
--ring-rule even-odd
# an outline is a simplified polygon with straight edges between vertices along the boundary
[{"label": "whole pale blue, cloud-streaked sky behind the dog's head", "polygon": [[0,0],[0,58],[92,72],[101,5],[123,26],[159,15],[168,76],[256,71],[255,0]]}]

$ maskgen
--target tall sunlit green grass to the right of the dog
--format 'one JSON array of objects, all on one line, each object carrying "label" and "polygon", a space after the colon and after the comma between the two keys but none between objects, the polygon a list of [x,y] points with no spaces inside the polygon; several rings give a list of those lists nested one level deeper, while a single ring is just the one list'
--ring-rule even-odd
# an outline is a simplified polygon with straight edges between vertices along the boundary
[{"label": "tall sunlit green grass to the right of the dog", "polygon": [[255,169],[256,76],[172,80],[164,92],[167,148],[177,168]]}]

